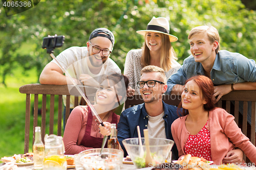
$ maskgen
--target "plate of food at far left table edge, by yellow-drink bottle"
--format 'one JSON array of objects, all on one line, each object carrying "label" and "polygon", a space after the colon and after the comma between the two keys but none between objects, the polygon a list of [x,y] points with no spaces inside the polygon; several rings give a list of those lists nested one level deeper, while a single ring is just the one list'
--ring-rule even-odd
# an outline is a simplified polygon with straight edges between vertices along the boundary
[{"label": "plate of food at far left table edge, by yellow-drink bottle", "polygon": [[4,156],[1,158],[2,162],[13,162],[15,165],[22,166],[22,165],[30,165],[33,164],[33,153],[26,153],[26,154],[14,154],[11,157]]}]

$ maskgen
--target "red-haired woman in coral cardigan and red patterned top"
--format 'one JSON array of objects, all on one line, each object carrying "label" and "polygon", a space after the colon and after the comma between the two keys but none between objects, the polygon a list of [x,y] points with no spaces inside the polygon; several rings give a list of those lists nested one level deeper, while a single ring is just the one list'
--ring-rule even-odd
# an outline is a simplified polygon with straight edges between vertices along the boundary
[{"label": "red-haired woman in coral cardigan and red patterned top", "polygon": [[221,164],[228,151],[235,147],[256,163],[256,148],[222,108],[215,108],[214,84],[205,76],[186,81],[179,108],[182,117],[172,124],[172,134],[179,151]]}]

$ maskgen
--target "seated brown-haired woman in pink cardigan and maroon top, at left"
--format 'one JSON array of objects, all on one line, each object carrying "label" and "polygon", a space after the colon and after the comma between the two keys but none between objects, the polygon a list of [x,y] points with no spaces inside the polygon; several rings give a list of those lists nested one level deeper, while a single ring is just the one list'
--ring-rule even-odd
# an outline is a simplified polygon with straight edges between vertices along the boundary
[{"label": "seated brown-haired woman in pink cardigan and maroon top, at left", "polygon": [[[118,124],[120,116],[113,111],[126,99],[129,80],[126,76],[112,74],[103,78],[96,92],[93,108],[104,122]],[[101,148],[103,135],[99,130],[100,122],[87,106],[75,107],[67,121],[63,135],[66,154],[78,154],[92,148]]]}]

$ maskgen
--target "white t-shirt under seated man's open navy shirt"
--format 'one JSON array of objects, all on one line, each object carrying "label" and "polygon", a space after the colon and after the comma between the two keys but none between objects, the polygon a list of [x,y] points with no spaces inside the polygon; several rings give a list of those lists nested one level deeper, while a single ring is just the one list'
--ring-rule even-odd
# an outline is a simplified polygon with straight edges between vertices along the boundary
[{"label": "white t-shirt under seated man's open navy shirt", "polygon": [[164,112],[162,112],[160,115],[154,116],[154,117],[147,115],[147,117],[148,117],[148,123],[147,123],[148,137],[165,138],[166,139],[163,116],[164,116]]}]

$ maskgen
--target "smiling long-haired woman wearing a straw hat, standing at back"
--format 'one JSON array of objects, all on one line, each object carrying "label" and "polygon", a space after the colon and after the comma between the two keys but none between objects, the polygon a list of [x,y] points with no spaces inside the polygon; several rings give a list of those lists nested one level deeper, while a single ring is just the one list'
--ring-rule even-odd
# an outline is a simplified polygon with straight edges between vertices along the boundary
[{"label": "smiling long-haired woman wearing a straw hat, standing at back", "polygon": [[164,17],[153,17],[146,30],[137,31],[145,37],[142,49],[127,53],[124,65],[124,75],[129,78],[127,96],[140,94],[136,83],[140,80],[140,70],[147,65],[156,65],[164,69],[168,79],[180,68],[171,42],[178,40],[169,34],[169,22]]}]

